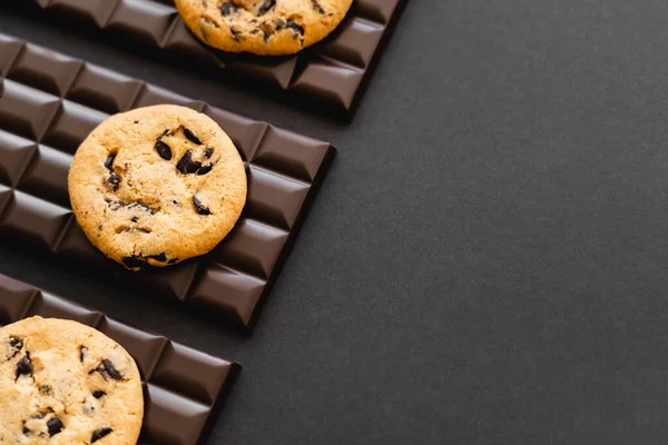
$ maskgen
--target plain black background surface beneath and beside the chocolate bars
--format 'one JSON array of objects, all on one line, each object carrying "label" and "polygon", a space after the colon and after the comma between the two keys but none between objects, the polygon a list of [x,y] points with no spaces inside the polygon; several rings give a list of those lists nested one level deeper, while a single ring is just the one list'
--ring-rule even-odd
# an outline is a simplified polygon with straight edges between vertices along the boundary
[{"label": "plain black background surface beneath and beside the chocolate bars", "polygon": [[338,158],[253,337],[0,248],[0,273],[244,372],[212,444],[660,444],[668,7],[411,0],[351,125],[76,27],[0,30]]}]

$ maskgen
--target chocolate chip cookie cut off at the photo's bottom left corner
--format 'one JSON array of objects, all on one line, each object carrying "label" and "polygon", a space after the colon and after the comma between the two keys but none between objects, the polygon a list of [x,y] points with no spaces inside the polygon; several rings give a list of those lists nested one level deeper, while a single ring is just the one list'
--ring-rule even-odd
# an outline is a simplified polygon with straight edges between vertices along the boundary
[{"label": "chocolate chip cookie cut off at the photo's bottom left corner", "polygon": [[144,418],[128,353],[77,322],[0,328],[0,444],[136,444]]}]

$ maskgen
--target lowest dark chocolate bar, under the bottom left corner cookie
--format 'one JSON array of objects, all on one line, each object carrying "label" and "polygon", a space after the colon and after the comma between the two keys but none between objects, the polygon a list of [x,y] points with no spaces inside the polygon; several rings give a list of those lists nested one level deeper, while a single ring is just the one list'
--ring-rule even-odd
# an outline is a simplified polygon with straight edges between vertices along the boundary
[{"label": "lowest dark chocolate bar, under the bottom left corner cookie", "polygon": [[131,327],[0,275],[0,326],[35,315],[92,326],[130,353],[144,384],[145,418],[140,444],[205,443],[240,370],[237,363]]}]

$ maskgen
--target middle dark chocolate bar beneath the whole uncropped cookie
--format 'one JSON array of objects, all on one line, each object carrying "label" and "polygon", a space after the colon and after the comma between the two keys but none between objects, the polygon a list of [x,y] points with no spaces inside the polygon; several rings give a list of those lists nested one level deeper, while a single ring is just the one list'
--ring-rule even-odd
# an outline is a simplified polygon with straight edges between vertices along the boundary
[{"label": "middle dark chocolate bar beneath the whole uncropped cookie", "polygon": [[[0,34],[0,236],[96,265],[216,320],[249,327],[302,226],[335,149],[144,81]],[[67,189],[72,154],[109,113],[178,103],[234,140],[248,198],[233,231],[206,256],[130,273],[88,241]]]}]

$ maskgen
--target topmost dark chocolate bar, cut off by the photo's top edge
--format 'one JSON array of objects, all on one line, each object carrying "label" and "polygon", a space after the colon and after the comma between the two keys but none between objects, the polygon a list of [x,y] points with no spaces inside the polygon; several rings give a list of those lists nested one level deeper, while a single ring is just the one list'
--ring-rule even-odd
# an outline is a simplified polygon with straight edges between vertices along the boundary
[{"label": "topmost dark chocolate bar, cut off by the photo's top edge", "polygon": [[237,79],[296,91],[352,117],[406,0],[354,0],[326,40],[296,56],[232,55],[200,43],[180,20],[173,0],[29,0],[65,12],[183,63],[228,72]]}]

